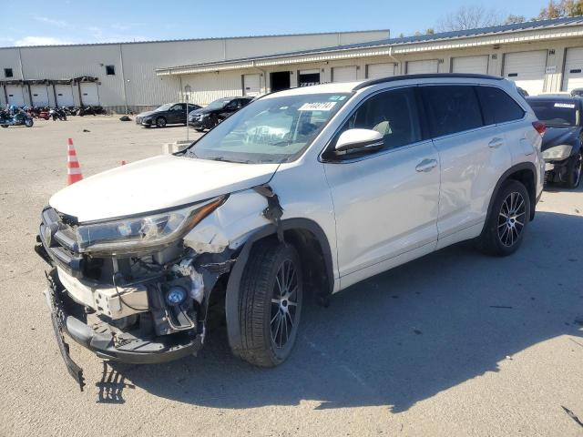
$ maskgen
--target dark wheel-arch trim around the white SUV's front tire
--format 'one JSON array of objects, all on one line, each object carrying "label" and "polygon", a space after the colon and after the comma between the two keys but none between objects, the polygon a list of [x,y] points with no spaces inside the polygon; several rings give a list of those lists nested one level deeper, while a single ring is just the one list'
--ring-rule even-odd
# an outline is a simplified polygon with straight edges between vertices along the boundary
[{"label": "dark wheel-arch trim around the white SUV's front tire", "polygon": [[[334,286],[334,276],[332,272],[332,252],[326,234],[320,226],[310,219],[284,219],[281,220],[281,229],[285,233],[290,229],[304,229],[309,230],[318,239],[324,262],[326,264],[326,275],[328,277],[329,290],[328,294],[332,294]],[[227,319],[227,335],[229,338],[230,349],[233,354],[239,356],[239,351],[242,350],[241,336],[240,336],[240,279],[243,276],[243,271],[247,265],[249,254],[253,248],[253,244],[270,235],[277,235],[278,227],[274,224],[266,225],[257,229],[251,237],[247,239],[245,245],[240,250],[237,257],[237,262],[230,270],[229,282],[227,283],[227,291],[225,297],[225,315]]]}]

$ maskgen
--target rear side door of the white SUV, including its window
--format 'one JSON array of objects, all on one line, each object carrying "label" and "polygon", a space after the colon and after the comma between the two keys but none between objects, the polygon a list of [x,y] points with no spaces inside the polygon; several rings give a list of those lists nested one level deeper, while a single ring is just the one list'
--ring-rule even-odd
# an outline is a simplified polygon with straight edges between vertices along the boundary
[{"label": "rear side door of the white SUV, including its window", "polygon": [[492,190],[511,158],[505,137],[485,123],[475,86],[421,89],[442,165],[437,229],[443,247],[479,234]]}]

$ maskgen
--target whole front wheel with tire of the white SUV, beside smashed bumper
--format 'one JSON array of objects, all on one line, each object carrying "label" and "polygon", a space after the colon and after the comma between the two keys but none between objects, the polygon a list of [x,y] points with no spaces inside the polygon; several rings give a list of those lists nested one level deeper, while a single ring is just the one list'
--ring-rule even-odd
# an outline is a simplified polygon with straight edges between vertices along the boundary
[{"label": "whole front wheel with tire of the white SUV, beside smashed bumper", "polygon": [[240,288],[243,360],[274,367],[290,356],[302,313],[302,280],[291,245],[271,239],[254,244]]}]

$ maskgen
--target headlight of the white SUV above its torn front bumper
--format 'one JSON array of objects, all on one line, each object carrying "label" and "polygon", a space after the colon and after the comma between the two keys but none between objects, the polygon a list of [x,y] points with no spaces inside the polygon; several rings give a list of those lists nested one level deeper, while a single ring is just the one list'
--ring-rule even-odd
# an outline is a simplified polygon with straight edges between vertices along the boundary
[{"label": "headlight of the white SUV above its torn front bumper", "polygon": [[203,205],[174,209],[143,217],[104,221],[77,227],[81,252],[124,254],[172,244],[226,200],[213,198]]}]

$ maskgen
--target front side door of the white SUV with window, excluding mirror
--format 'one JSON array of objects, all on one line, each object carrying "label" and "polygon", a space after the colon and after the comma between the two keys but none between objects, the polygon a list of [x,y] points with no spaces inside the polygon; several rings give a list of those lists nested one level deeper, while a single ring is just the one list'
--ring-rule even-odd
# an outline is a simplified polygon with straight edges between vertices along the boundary
[{"label": "front side door of the white SUV with window, excluding mirror", "polygon": [[436,247],[439,156],[419,120],[415,87],[382,91],[356,109],[331,147],[344,130],[366,128],[383,134],[384,148],[324,155],[343,288]]}]

